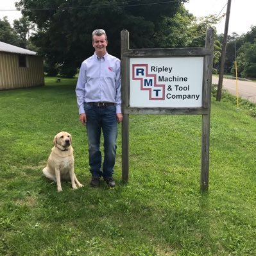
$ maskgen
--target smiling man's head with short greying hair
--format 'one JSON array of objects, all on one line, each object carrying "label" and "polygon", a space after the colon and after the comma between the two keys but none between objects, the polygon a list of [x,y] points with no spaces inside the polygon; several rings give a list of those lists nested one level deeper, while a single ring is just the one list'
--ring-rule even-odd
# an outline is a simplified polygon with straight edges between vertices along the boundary
[{"label": "smiling man's head with short greying hair", "polygon": [[92,32],[92,46],[95,49],[96,55],[102,57],[107,53],[108,39],[104,30],[94,30]]}]

